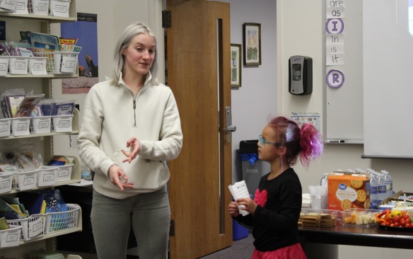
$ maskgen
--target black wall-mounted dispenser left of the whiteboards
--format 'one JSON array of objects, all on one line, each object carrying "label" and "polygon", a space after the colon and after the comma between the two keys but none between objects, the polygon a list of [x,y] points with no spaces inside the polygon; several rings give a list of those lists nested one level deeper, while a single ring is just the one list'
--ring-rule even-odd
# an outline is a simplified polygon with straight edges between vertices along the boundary
[{"label": "black wall-mounted dispenser left of the whiteboards", "polygon": [[289,59],[289,92],[305,96],[313,92],[313,59],[293,56]]}]

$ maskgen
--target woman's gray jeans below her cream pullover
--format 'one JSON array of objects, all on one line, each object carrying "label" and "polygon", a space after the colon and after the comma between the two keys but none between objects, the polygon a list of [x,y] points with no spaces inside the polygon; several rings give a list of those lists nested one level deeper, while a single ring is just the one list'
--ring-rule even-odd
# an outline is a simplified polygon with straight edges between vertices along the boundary
[{"label": "woman's gray jeans below her cream pullover", "polygon": [[166,188],[124,200],[93,191],[91,223],[99,259],[126,258],[131,225],[139,259],[167,258],[170,205]]}]

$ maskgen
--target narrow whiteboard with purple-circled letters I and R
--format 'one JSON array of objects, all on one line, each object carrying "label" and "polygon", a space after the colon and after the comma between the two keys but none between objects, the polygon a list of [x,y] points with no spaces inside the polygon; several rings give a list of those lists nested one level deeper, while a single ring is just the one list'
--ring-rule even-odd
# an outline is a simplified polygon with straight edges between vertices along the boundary
[{"label": "narrow whiteboard with purple-circled letters I and R", "polygon": [[363,144],[363,1],[325,0],[325,11],[323,137]]}]

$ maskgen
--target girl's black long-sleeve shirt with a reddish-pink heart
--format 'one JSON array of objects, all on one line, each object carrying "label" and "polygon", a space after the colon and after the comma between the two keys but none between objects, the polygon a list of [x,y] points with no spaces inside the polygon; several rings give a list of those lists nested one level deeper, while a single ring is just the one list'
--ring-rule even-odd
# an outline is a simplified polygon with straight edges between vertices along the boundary
[{"label": "girl's black long-sleeve shirt with a reddish-pink heart", "polygon": [[[274,251],[298,243],[298,219],[302,190],[298,175],[289,168],[272,180],[262,176],[255,192],[257,209],[254,216],[241,214],[241,224],[252,226],[254,246],[258,251]],[[265,195],[267,192],[267,197]]]}]

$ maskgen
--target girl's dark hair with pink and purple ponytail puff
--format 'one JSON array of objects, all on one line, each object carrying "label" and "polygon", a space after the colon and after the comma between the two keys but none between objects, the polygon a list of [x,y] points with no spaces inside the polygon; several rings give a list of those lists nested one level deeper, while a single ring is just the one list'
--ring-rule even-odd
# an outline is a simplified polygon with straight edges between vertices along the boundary
[{"label": "girl's dark hair with pink and purple ponytail puff", "polygon": [[313,125],[304,123],[300,129],[296,122],[279,116],[274,117],[269,122],[269,127],[278,132],[278,142],[281,146],[286,147],[284,157],[290,166],[296,163],[298,154],[300,154],[301,163],[306,168],[308,168],[311,159],[321,156],[322,137]]}]

